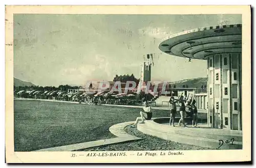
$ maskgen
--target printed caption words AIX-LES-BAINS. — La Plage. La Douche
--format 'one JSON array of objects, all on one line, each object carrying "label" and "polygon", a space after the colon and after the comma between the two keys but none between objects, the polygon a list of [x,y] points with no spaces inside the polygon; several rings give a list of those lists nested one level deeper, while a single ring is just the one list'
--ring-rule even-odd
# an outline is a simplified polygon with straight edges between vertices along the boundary
[{"label": "printed caption words AIX-LES-BAINS. \u2014 La Plage. La Douche", "polygon": [[104,156],[165,156],[165,155],[184,155],[183,152],[136,152],[127,154],[127,152],[90,152],[86,154],[87,157],[104,157]]}]

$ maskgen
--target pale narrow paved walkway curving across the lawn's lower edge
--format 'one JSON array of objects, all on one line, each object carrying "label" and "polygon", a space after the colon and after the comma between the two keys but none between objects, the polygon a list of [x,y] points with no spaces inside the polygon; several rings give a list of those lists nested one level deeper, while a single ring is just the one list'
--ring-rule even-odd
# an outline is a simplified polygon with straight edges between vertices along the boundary
[{"label": "pale narrow paved walkway curving across the lawn's lower edge", "polygon": [[103,145],[110,145],[113,143],[120,143],[132,140],[139,140],[142,138],[130,135],[124,131],[124,127],[133,124],[134,122],[125,122],[113,125],[109,128],[110,132],[116,135],[116,138],[110,139],[102,139],[102,140],[95,140],[90,142],[83,142],[83,143],[76,143],[73,145],[61,146],[61,147],[54,147],[54,148],[47,148],[37,150],[36,152],[44,152],[44,151],[76,151],[80,149],[87,149],[92,147],[98,147]]}]

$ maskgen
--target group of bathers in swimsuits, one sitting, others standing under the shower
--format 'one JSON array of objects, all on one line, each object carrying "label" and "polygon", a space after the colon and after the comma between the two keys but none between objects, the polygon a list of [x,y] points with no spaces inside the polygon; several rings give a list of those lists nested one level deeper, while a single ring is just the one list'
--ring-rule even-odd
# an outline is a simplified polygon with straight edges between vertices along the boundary
[{"label": "group of bathers in swimsuits, one sitting, others standing under the shower", "polygon": [[[189,97],[189,95],[188,95]],[[179,106],[179,112],[180,112],[180,120],[179,120],[179,126],[181,126],[181,123],[183,124],[184,127],[187,127],[185,124],[185,112],[186,112],[186,107],[188,107],[189,113],[192,115],[193,120],[192,120],[192,125],[193,127],[198,127],[198,111],[197,111],[197,107],[196,107],[196,100],[195,97],[191,97],[191,99],[189,101],[188,97],[186,99],[184,99],[183,94],[181,94],[178,99],[175,99],[174,97],[171,97],[169,100],[169,110],[170,110],[170,120],[169,120],[169,124],[170,126],[175,127],[174,125],[174,120],[176,117],[176,113],[177,113],[177,105]],[[187,104],[185,105],[185,102],[187,102]],[[152,111],[151,111],[151,106],[147,103],[144,102],[144,106],[142,108],[143,110],[140,111],[140,117],[136,118],[135,123],[132,125],[132,127],[135,127],[139,121],[141,121],[141,123],[143,124],[145,120],[150,120],[152,118]]]}]

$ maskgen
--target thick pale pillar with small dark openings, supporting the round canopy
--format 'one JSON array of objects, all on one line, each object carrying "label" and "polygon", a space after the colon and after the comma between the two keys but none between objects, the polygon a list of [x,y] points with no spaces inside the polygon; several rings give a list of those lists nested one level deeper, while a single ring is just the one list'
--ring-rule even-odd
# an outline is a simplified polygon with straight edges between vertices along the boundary
[{"label": "thick pale pillar with small dark openings, supporting the round canopy", "polygon": [[240,53],[208,57],[208,115],[212,117],[211,127],[242,130],[241,59]]}]

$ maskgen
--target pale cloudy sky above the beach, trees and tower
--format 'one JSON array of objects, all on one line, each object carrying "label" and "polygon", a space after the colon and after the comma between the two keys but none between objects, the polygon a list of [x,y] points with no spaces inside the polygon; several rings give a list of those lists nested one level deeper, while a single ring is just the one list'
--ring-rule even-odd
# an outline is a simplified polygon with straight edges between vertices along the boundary
[{"label": "pale cloudy sky above the beach, trees and tower", "polygon": [[207,62],[165,54],[182,31],[242,23],[241,15],[14,15],[14,77],[40,86],[81,85],[134,74],[153,54],[152,81],[207,77]]}]

